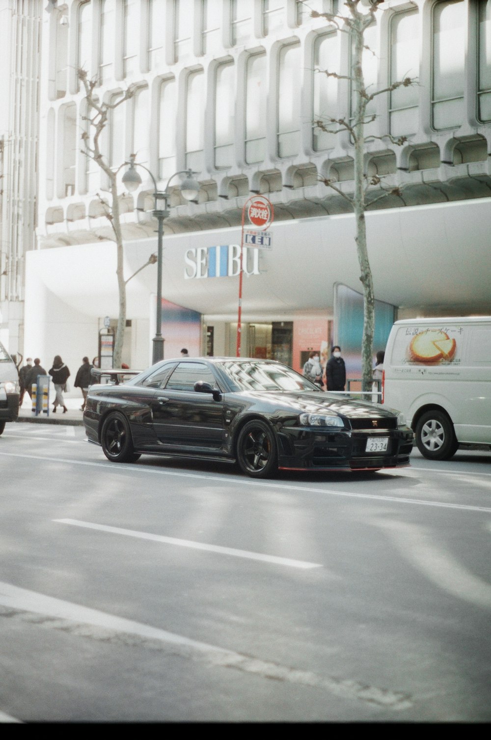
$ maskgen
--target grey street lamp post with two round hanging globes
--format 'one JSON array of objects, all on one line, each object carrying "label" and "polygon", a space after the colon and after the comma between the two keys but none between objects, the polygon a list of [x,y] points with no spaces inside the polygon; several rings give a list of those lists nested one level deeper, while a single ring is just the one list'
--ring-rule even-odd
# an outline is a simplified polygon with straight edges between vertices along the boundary
[{"label": "grey street lamp post with two round hanging globes", "polygon": [[[163,238],[163,220],[164,218],[167,218],[169,215],[168,207],[169,207],[169,184],[171,180],[173,180],[177,175],[186,175],[186,178],[182,181],[182,183],[179,186],[180,194],[183,196],[183,198],[186,198],[186,201],[193,201],[194,198],[196,198],[197,193],[200,189],[199,184],[196,180],[194,180],[193,175],[194,172],[192,169],[181,169],[179,172],[175,172],[174,175],[172,175],[172,178],[169,178],[169,181],[167,182],[166,189],[163,192],[160,192],[157,189],[157,182],[155,181],[155,177],[152,175],[152,172],[150,172],[149,169],[146,168],[143,164],[138,164],[138,162],[135,162],[135,155],[131,155],[129,158],[129,162],[125,162],[124,164],[129,165],[128,169],[126,169],[126,172],[123,175],[123,185],[126,187],[126,189],[129,190],[129,192],[133,192],[141,185],[141,178],[138,172],[136,171],[136,167],[143,167],[143,169],[146,170],[146,172],[149,173],[150,177],[152,178],[152,182],[154,184],[154,200],[155,200],[155,207],[153,211],[153,215],[155,218],[158,219],[158,251],[157,251],[157,314],[156,314],[156,324],[157,328],[155,330],[155,337],[153,339],[153,358],[152,358],[152,364],[158,363],[159,360],[163,360],[163,337],[162,337],[162,238]],[[162,202],[163,201],[163,202]]]}]

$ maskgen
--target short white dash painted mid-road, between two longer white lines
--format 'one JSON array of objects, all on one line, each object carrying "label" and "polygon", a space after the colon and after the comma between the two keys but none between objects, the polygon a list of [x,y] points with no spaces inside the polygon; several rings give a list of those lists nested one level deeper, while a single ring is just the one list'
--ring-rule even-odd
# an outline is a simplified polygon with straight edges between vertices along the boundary
[{"label": "short white dash painted mid-road, between two longer white lines", "polygon": [[61,524],[71,524],[75,527],[86,527],[87,529],[97,529],[101,532],[110,532],[112,534],[124,534],[128,537],[138,537],[139,539],[152,539],[154,542],[165,542],[167,545],[178,545],[181,548],[192,548],[193,550],[205,550],[211,553],[220,553],[220,555],[232,555],[234,557],[243,557],[249,560],[260,560],[262,562],[273,562],[275,565],[288,565],[290,568],[322,568],[317,562],[305,562],[305,560],[292,560],[290,558],[278,557],[276,555],[263,555],[253,553],[248,550],[236,550],[235,548],[223,548],[220,545],[206,545],[204,542],[192,542],[190,539],[177,539],[176,537],[166,537],[160,534],[149,534],[148,532],[139,532],[133,529],[121,529],[119,527],[109,527],[104,524],[93,524],[92,522],[81,522],[79,519],[53,519],[53,522]]}]

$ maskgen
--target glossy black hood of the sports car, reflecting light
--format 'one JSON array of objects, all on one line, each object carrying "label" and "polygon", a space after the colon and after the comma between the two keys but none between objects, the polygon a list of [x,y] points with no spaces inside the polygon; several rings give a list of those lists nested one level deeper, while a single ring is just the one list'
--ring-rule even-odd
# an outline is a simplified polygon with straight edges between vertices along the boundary
[{"label": "glossy black hood of the sports car, reflecting light", "polygon": [[315,391],[251,391],[244,394],[251,400],[256,400],[260,406],[264,404],[277,409],[301,414],[325,414],[331,412],[347,419],[383,419],[398,414],[393,408],[382,407],[379,404],[369,403],[348,398],[340,398],[328,393]]}]

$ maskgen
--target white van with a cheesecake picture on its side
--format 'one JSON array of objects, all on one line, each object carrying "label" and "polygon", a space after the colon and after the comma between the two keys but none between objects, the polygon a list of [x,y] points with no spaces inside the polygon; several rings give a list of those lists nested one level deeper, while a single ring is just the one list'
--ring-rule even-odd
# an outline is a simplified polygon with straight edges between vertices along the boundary
[{"label": "white van with a cheesecake picture on its side", "polygon": [[491,445],[491,317],[404,319],[387,340],[382,403],[398,408],[430,460]]}]

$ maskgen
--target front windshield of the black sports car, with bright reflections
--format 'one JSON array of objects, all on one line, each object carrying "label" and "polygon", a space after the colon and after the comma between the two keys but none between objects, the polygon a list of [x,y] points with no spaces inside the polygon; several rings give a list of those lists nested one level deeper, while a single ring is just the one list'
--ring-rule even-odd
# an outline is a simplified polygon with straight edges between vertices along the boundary
[{"label": "front windshield of the black sports car, with bright reflections", "polygon": [[314,383],[286,365],[258,360],[221,363],[229,380],[240,391],[319,391]]}]

